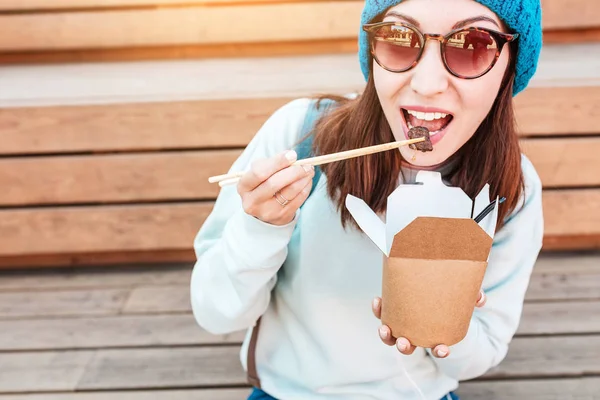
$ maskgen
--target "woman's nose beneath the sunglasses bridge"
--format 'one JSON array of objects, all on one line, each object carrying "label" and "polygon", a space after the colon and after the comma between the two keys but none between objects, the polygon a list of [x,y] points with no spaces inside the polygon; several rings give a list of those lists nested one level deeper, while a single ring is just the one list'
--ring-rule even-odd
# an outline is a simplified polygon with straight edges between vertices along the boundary
[{"label": "woman's nose beneath the sunglasses bridge", "polygon": [[437,40],[428,40],[421,59],[412,69],[410,86],[423,97],[431,97],[448,89],[449,74],[444,68],[440,44]]}]

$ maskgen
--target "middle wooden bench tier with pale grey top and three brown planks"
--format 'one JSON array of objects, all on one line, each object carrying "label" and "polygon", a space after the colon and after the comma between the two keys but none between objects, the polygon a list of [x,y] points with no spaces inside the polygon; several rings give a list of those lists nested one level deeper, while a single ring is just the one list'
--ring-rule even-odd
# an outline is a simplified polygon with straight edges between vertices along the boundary
[{"label": "middle wooden bench tier with pale grey top and three brown planks", "polygon": [[[599,52],[548,46],[516,98],[545,250],[600,247]],[[193,260],[218,193],[207,177],[290,99],[362,86],[352,54],[4,67],[0,265]]]}]

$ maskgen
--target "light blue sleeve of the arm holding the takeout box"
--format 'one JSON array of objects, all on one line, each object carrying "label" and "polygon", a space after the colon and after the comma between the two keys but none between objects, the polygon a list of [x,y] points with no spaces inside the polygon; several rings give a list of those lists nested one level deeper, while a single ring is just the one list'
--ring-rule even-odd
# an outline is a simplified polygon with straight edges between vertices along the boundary
[{"label": "light blue sleeve of the arm holding the takeout box", "polygon": [[[433,358],[446,375],[457,380],[481,376],[497,366],[506,357],[519,326],[544,235],[542,184],[525,156],[522,169],[524,201],[494,237],[483,281],[487,303],[475,309],[466,337],[450,346],[450,355]],[[428,352],[431,354],[431,350]]]}]

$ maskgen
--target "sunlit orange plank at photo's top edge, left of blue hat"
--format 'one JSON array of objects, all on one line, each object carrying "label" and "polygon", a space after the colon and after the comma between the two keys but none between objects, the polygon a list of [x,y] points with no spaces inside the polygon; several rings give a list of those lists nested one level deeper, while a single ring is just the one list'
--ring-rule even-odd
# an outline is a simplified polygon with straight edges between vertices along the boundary
[{"label": "sunlit orange plank at photo's top edge, left of blue hat", "polygon": [[[0,51],[356,37],[362,6],[360,1],[317,1],[0,15]],[[28,26],[26,34],[22,26]]]}]

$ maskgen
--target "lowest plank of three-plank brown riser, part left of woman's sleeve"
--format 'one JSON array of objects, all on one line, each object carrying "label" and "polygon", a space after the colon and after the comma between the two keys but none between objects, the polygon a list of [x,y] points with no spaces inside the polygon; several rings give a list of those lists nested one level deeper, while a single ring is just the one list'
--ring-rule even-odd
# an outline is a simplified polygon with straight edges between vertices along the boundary
[{"label": "lowest plank of three-plank brown riser, part left of woman's sleeve", "polygon": [[211,209],[198,202],[3,210],[0,254],[181,250]]}]

